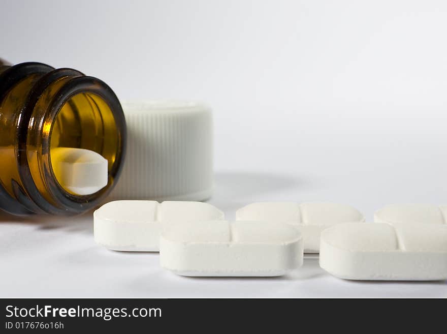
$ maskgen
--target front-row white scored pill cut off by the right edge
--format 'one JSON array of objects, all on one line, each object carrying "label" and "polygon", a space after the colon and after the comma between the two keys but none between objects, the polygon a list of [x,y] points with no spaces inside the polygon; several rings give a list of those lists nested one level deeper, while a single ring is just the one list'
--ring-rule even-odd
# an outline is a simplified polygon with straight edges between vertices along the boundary
[{"label": "front-row white scored pill cut off by the right edge", "polygon": [[338,224],[322,232],[320,266],[348,280],[444,280],[447,225]]}]

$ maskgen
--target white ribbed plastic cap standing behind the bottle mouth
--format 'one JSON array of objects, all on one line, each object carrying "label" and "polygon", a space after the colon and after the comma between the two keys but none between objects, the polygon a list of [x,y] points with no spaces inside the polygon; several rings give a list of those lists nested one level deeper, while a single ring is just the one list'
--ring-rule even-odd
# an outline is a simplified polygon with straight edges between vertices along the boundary
[{"label": "white ribbed plastic cap standing behind the bottle mouth", "polygon": [[194,102],[125,102],[127,153],[113,199],[205,200],[213,187],[211,109]]}]

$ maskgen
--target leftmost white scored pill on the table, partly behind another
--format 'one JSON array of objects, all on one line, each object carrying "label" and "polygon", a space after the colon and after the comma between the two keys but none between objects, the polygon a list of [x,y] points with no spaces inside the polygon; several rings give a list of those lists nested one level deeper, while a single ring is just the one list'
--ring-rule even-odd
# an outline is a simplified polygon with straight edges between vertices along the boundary
[{"label": "leftmost white scored pill on the table, partly behind another", "polygon": [[94,240],[116,251],[158,252],[166,223],[223,218],[222,211],[202,202],[113,201],[94,211]]}]

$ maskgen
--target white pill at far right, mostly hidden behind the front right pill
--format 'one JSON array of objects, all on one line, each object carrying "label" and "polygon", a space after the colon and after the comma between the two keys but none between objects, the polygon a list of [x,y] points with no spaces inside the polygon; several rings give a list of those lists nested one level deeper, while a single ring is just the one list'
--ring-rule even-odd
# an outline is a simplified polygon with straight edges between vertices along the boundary
[{"label": "white pill at far right, mostly hidden behind the front right pill", "polygon": [[447,224],[447,205],[391,204],[374,212],[376,223]]}]

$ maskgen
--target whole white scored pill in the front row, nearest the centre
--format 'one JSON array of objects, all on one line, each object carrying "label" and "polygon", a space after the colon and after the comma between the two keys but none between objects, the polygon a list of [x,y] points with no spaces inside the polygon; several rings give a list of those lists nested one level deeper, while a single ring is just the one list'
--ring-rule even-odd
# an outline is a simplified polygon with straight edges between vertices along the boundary
[{"label": "whole white scored pill in the front row, nearest the centre", "polygon": [[183,276],[280,276],[302,265],[303,242],[289,224],[169,224],[160,238],[160,263]]}]

